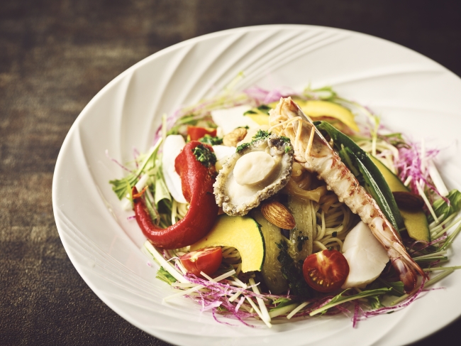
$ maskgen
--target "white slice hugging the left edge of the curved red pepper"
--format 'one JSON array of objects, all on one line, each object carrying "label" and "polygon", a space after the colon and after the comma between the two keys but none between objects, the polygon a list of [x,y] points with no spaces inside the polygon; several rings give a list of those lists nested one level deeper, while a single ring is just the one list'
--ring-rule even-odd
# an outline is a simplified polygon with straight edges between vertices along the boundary
[{"label": "white slice hugging the left edge of the curved red pepper", "polygon": [[175,200],[180,203],[187,203],[182,194],[182,183],[179,174],[174,169],[174,160],[186,145],[180,134],[171,134],[165,139],[162,155],[162,172],[168,190]]}]

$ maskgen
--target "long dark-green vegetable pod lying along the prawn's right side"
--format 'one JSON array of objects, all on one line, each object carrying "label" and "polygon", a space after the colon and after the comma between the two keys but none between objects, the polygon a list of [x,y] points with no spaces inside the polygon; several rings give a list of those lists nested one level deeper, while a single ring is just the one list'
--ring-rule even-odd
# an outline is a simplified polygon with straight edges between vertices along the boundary
[{"label": "long dark-green vegetable pod lying along the prawn's right side", "polygon": [[355,141],[343,132],[335,129],[326,121],[314,121],[316,128],[331,137],[335,148],[338,150],[341,161],[345,163],[350,171],[355,175],[367,193],[377,202],[384,216],[391,222],[396,229],[404,229],[404,219],[401,216],[399,207],[392,195],[387,181],[384,179],[382,172],[373,163],[365,151],[355,144]]}]

